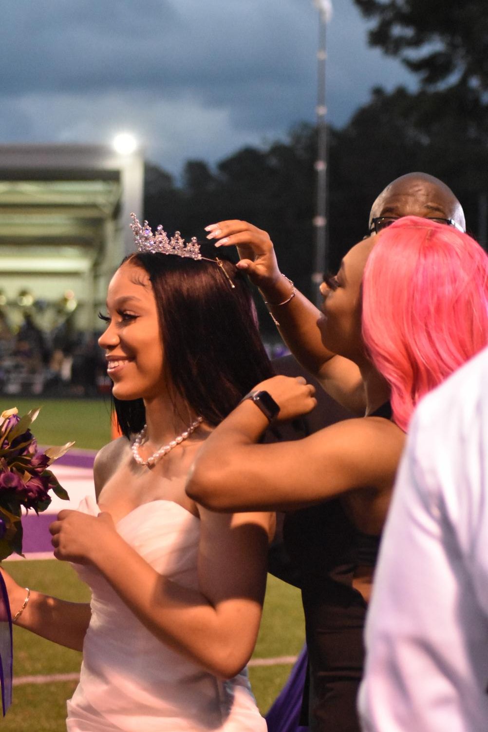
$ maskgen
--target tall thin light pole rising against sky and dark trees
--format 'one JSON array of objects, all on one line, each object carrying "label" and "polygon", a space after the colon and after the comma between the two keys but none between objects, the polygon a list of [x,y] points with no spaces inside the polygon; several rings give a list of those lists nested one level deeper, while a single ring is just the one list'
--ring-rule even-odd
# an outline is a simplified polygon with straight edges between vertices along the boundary
[{"label": "tall thin light pole rising against sky and dark trees", "polygon": [[316,170],[316,214],[313,217],[315,230],[315,261],[312,288],[316,305],[321,303],[319,285],[322,273],[327,267],[327,106],[325,103],[325,70],[327,61],[327,23],[332,18],[330,0],[313,0],[319,10],[319,51],[317,52],[317,159]]}]

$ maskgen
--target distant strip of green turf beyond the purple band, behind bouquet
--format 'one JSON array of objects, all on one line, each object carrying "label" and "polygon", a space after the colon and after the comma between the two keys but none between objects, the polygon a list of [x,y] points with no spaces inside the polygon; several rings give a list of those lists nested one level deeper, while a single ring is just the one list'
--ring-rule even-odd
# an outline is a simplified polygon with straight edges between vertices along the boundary
[{"label": "distant strip of green turf beyond the purple band, behind bouquet", "polygon": [[1,409],[17,407],[19,414],[41,406],[32,431],[39,444],[100,449],[110,440],[110,399],[45,399],[13,395],[1,397]]}]

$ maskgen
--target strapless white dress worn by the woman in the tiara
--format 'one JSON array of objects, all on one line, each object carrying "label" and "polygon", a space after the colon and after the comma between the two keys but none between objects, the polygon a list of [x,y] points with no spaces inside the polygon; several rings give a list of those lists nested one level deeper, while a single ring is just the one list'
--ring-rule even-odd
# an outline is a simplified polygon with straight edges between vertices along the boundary
[{"label": "strapless white dress worn by the woman in the tiara", "polygon": [[[80,511],[99,508],[85,498]],[[179,504],[158,500],[131,511],[117,530],[161,575],[197,589],[199,526]],[[266,732],[245,669],[216,679],[158,641],[93,567],[75,569],[91,587],[92,615],[68,732]]]}]

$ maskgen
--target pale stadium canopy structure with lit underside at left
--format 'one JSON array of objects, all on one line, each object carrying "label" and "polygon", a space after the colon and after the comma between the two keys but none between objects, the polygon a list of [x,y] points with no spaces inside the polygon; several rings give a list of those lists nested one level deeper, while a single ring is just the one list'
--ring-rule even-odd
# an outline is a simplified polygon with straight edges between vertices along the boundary
[{"label": "pale stadium canopy structure with lit underside at left", "polygon": [[94,305],[133,248],[129,213],[142,213],[142,186],[137,153],[0,146],[0,280],[7,296],[23,282],[36,296],[56,298],[72,278],[85,304]]}]

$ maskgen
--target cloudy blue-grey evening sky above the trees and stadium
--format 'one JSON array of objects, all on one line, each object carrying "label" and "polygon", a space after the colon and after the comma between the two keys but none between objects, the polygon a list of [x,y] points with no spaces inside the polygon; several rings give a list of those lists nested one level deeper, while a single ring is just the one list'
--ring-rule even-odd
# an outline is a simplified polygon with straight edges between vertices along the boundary
[{"label": "cloudy blue-grey evening sky above the trees and stadium", "polygon": [[[131,131],[172,173],[312,122],[312,0],[0,0],[0,143],[106,143]],[[333,0],[327,107],[345,123],[373,86],[413,86]]]}]

